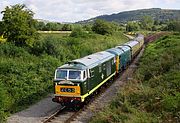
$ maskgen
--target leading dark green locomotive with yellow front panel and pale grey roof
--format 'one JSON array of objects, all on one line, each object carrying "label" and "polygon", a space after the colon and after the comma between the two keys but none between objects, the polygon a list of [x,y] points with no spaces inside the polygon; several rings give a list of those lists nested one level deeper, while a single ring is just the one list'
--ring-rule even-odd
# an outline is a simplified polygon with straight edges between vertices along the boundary
[{"label": "leading dark green locomotive with yellow front panel and pale grey roof", "polygon": [[115,73],[115,55],[106,51],[68,62],[55,72],[53,101],[63,105],[84,102]]}]

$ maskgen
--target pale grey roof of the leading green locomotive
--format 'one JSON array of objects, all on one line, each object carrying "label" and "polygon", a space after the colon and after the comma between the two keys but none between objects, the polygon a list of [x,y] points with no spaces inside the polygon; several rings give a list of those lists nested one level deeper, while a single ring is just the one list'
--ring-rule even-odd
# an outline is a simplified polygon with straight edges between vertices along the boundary
[{"label": "pale grey roof of the leading green locomotive", "polygon": [[109,59],[113,58],[115,55],[106,51],[97,52],[80,59],[73,60],[69,62],[70,64],[84,65],[86,68],[93,68]]}]

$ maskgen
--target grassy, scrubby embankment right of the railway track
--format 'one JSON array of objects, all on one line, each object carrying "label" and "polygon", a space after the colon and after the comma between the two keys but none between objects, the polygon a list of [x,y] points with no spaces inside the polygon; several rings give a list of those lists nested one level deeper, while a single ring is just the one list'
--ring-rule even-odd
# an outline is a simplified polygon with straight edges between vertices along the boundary
[{"label": "grassy, scrubby embankment right of the railway track", "polygon": [[91,122],[180,122],[180,34],[149,44],[135,79]]}]

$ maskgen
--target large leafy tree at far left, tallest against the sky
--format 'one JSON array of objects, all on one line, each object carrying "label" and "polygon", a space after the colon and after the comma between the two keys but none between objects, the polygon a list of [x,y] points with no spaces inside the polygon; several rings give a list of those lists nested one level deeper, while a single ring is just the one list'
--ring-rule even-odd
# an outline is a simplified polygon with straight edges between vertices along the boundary
[{"label": "large leafy tree at far left, tallest against the sky", "polygon": [[1,13],[3,14],[3,34],[7,41],[18,46],[32,45],[37,36],[34,13],[20,4],[7,6]]}]

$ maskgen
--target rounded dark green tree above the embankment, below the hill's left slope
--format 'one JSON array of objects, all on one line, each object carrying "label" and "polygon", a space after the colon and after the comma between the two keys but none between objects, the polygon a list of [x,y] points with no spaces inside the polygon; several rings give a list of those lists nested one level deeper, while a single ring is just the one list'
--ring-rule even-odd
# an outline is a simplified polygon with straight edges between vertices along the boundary
[{"label": "rounded dark green tree above the embankment, below the hill's left slope", "polygon": [[92,26],[92,30],[95,33],[105,35],[105,34],[112,34],[114,32],[113,25],[107,21],[97,19]]}]

